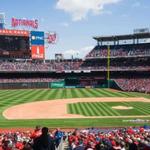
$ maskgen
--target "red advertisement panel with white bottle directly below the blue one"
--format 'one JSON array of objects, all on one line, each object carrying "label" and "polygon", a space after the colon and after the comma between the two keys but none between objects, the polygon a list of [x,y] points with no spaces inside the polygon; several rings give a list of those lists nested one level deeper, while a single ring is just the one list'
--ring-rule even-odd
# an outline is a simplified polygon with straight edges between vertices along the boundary
[{"label": "red advertisement panel with white bottle directly below the blue one", "polygon": [[42,45],[32,45],[31,46],[32,59],[44,59],[45,49]]}]

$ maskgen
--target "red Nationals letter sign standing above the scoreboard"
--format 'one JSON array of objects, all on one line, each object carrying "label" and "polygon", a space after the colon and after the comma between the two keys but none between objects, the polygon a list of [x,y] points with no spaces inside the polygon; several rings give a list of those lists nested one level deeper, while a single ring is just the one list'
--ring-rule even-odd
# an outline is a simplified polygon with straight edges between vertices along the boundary
[{"label": "red Nationals letter sign standing above the scoreboard", "polygon": [[12,27],[26,26],[26,27],[31,27],[31,28],[37,29],[38,28],[38,20],[12,18],[11,25],[12,25]]}]

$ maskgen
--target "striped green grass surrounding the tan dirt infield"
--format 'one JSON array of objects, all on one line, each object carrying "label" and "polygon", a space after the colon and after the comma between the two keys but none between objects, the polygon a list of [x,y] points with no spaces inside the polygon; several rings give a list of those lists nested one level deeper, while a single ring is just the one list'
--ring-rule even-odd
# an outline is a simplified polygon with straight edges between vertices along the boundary
[{"label": "striped green grass surrounding the tan dirt infield", "polygon": [[[33,127],[37,124],[49,127],[78,127],[78,126],[123,126],[135,125],[123,122],[123,119],[51,119],[51,120],[6,120],[2,112],[13,105],[33,101],[53,99],[81,98],[81,97],[146,97],[150,95],[141,93],[112,92],[107,89],[30,89],[30,90],[0,90],[0,127]],[[139,105],[140,106],[140,105]],[[94,106],[92,106],[94,107]],[[143,111],[148,106],[143,106]],[[28,111],[28,110],[27,110]],[[146,115],[146,114],[144,114]],[[128,118],[124,118],[128,119]],[[144,118],[150,119],[150,118]],[[136,124],[136,125],[139,125]]]}]

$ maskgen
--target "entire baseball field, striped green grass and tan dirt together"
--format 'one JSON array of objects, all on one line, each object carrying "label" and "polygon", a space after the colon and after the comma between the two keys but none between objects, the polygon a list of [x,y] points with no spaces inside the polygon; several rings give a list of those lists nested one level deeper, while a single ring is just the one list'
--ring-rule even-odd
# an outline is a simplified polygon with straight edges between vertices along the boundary
[{"label": "entire baseball field, striped green grass and tan dirt together", "polygon": [[[142,121],[134,122],[137,119]],[[3,128],[121,127],[149,123],[149,94],[90,88],[0,90]]]}]

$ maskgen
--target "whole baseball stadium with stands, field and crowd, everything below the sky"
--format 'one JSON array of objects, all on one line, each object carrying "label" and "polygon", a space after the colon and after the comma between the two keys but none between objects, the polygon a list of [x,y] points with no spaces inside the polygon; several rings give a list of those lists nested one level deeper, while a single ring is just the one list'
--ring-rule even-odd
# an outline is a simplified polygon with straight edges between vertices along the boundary
[{"label": "whole baseball stadium with stands, field and crowd, everything below the sky", "polygon": [[37,26],[0,22],[0,150],[149,150],[150,30],[93,35],[84,58],[46,59],[57,34]]}]

